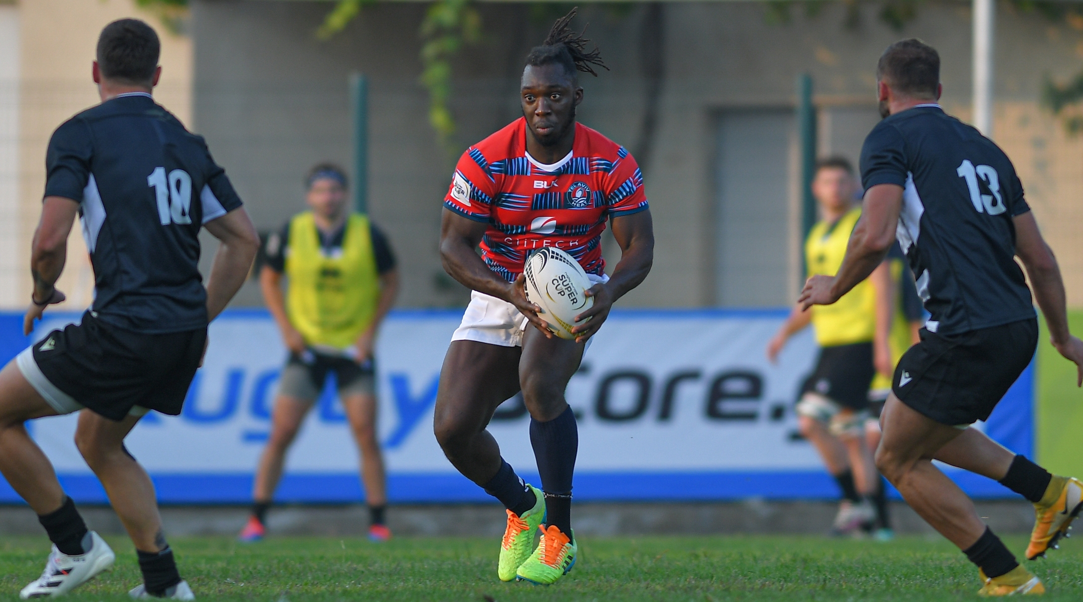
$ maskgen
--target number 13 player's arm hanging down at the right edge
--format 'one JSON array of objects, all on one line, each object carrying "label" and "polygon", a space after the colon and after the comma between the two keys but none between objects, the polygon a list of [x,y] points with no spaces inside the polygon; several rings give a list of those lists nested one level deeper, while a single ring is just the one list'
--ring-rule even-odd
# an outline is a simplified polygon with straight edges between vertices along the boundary
[{"label": "number 13 player's arm hanging down at the right edge", "polygon": [[1033,213],[1028,211],[1016,215],[1013,221],[1016,228],[1016,254],[1027,267],[1038,306],[1042,309],[1045,324],[1049,327],[1049,340],[1061,355],[1075,363],[1075,384],[1083,385],[1083,342],[1068,330],[1065,283],[1060,278],[1057,258],[1042,238]]}]

